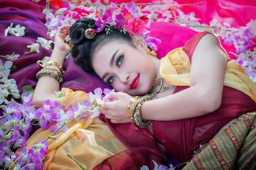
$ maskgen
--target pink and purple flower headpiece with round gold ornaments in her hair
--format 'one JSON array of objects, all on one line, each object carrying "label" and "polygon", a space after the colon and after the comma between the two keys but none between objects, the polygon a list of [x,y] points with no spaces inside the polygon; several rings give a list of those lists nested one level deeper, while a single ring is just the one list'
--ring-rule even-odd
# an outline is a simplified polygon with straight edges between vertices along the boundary
[{"label": "pink and purple flower headpiece with round gold ornaments in her hair", "polygon": [[[96,36],[95,32],[101,32],[105,30],[106,34],[111,34],[112,29],[116,28],[124,34],[129,33],[130,37],[133,34],[141,35],[147,45],[153,50],[157,51],[157,44],[160,44],[161,40],[149,37],[150,22],[146,24],[144,20],[138,17],[139,8],[135,5],[134,1],[130,3],[122,3],[119,7],[112,3],[110,6],[99,4],[96,7],[96,11],[91,15],[91,19],[96,20],[95,24],[99,28],[93,30],[88,28],[84,32],[84,36],[88,39],[92,39]],[[68,42],[69,41],[69,42]],[[70,38],[66,38],[66,42],[73,47]]]}]

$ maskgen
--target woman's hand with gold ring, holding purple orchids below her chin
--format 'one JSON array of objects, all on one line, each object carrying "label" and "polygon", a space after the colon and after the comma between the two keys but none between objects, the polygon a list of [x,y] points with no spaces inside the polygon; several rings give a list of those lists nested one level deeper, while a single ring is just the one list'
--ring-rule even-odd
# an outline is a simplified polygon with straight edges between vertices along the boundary
[{"label": "woman's hand with gold ring, holding purple orchids below her chin", "polygon": [[[130,99],[132,96],[126,93],[111,93],[108,96],[105,96],[108,99],[118,99],[114,102],[104,102],[101,99],[97,98],[96,103],[100,108],[101,113],[105,113],[107,119],[111,119],[112,123],[127,123],[131,122],[129,114],[126,112],[129,111],[127,105],[131,105]],[[106,110],[102,110],[101,106],[105,103]]]}]

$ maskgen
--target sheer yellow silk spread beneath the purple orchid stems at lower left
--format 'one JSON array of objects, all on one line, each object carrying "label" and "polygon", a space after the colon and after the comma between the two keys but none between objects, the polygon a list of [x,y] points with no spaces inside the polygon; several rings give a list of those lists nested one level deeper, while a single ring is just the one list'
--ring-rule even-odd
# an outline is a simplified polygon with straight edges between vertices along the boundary
[{"label": "sheer yellow silk spread beneath the purple orchid stems at lower left", "polygon": [[[68,111],[70,105],[77,105],[77,100],[82,101],[89,99],[83,91],[72,91],[68,88],[62,88],[61,92],[65,97],[60,104],[65,106]],[[87,119],[80,122],[75,120],[70,122],[69,130],[56,135],[57,139],[48,140],[49,155],[44,159],[44,169],[46,170],[80,170],[81,167],[75,161],[70,159],[67,154],[73,156],[87,170],[92,170],[96,165],[101,163],[116,153],[127,148],[114,136],[108,125],[97,118],[90,118],[88,113]],[[50,129],[37,130],[28,140],[27,149],[32,144],[50,136]]]}]

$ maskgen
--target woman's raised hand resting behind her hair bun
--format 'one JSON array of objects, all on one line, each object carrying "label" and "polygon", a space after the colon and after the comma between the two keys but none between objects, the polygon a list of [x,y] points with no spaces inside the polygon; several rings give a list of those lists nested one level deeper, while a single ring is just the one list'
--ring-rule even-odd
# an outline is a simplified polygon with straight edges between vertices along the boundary
[{"label": "woman's raised hand resting behind her hair bun", "polygon": [[61,26],[58,28],[58,31],[54,39],[54,49],[64,51],[67,54],[70,53],[71,48],[64,42],[65,38],[70,34],[71,26]]}]

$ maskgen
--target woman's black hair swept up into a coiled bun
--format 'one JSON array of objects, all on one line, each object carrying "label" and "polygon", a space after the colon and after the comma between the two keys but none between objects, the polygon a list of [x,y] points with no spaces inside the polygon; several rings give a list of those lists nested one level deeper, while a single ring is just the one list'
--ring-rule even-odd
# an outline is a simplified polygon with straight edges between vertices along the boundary
[{"label": "woman's black hair swept up into a coiled bun", "polygon": [[77,20],[70,27],[70,37],[71,42],[75,45],[71,49],[71,55],[75,58],[76,64],[89,74],[97,76],[91,61],[93,53],[99,46],[111,41],[122,41],[131,47],[136,48],[130,35],[128,33],[124,34],[124,32],[121,32],[116,28],[112,28],[110,34],[106,34],[104,29],[103,31],[96,33],[96,36],[93,39],[87,39],[84,36],[84,31],[87,28],[98,28],[95,24],[95,20],[85,17]]}]

